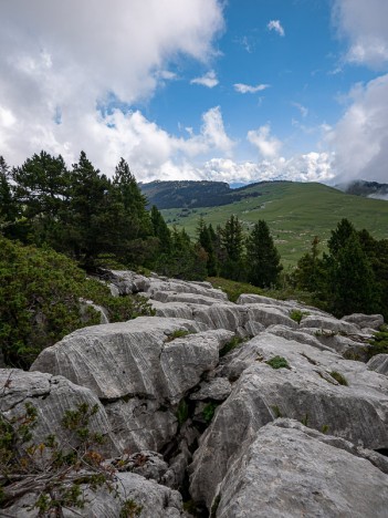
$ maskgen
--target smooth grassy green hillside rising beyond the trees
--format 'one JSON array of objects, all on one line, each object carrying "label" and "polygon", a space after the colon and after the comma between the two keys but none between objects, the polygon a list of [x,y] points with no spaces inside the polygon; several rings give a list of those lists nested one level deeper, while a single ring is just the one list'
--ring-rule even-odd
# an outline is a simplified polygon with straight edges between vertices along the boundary
[{"label": "smooth grassy green hillside rising beyond the trees", "polygon": [[344,194],[322,184],[270,182],[248,186],[247,195],[260,193],[220,207],[161,210],[167,224],[185,227],[195,236],[200,216],[207,224],[223,225],[235,214],[249,229],[264,219],[272,231],[283,263],[293,266],[310,249],[314,236],[323,246],[342,218],[349,219],[357,229],[366,228],[377,239],[388,238],[388,203]]}]

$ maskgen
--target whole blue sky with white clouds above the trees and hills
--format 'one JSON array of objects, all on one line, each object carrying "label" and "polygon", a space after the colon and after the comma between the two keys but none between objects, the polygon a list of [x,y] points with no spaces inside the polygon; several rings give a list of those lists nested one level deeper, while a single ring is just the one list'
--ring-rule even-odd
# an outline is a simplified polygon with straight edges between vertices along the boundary
[{"label": "whole blue sky with white clouds above the trees and hills", "polygon": [[0,0],[0,155],[388,183],[387,0]]}]

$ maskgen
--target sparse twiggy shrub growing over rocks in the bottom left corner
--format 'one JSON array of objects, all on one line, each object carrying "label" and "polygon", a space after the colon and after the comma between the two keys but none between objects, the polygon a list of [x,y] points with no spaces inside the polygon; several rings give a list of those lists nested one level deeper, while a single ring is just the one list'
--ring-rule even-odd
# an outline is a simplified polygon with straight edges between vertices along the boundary
[{"label": "sparse twiggy shrub growing over rocks in the bottom left corner", "polygon": [[[7,386],[11,383],[10,377]],[[98,453],[104,438],[90,429],[90,421],[97,411],[97,405],[90,407],[86,403],[67,410],[61,439],[50,435],[40,443],[33,439],[38,412],[31,403],[25,403],[25,411],[19,416],[9,417],[0,411],[1,509],[30,493],[35,498],[31,508],[39,516],[62,516],[63,508],[85,507],[85,487],[92,490],[105,487],[118,495],[114,470]],[[124,503],[123,512],[128,510]]]}]

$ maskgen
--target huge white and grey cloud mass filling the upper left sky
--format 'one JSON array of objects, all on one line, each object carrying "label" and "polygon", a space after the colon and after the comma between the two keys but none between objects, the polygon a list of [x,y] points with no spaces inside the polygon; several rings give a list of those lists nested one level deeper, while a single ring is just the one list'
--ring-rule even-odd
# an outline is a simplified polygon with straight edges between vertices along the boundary
[{"label": "huge white and grey cloud mass filling the upper left sky", "polygon": [[[42,148],[74,160],[82,145],[101,168],[133,156],[146,174],[190,147],[190,138],[180,145],[128,108],[175,79],[168,71],[179,56],[214,55],[221,2],[113,0],[107,8],[94,0],[12,0],[1,8],[0,142],[9,163]],[[103,110],[112,97],[126,115]],[[217,111],[203,123],[206,135],[195,136],[198,148],[228,147],[214,121]]]}]

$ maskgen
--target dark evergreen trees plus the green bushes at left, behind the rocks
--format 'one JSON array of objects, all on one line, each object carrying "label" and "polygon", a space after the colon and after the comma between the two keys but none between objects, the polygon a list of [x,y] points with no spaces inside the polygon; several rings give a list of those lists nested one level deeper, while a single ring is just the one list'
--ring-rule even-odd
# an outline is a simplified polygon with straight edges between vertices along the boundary
[{"label": "dark evergreen trees plus the green bushes at left, behind the rocks", "polygon": [[[109,178],[84,152],[72,168],[43,151],[19,167],[0,157],[0,340],[11,364],[28,365],[36,350],[86,324],[74,307],[80,297],[103,302],[117,319],[149,311],[144,301],[112,301],[99,283],[85,283],[86,274],[104,267],[210,278],[216,284],[223,278],[337,317],[364,312],[388,319],[387,239],[342,219],[326,252],[319,252],[316,236],[297,267],[284,271],[263,220],[245,234],[234,215],[217,228],[199,218],[193,240],[185,229],[169,228],[155,206],[147,209],[124,158]],[[44,325],[32,314],[41,314]]]}]

